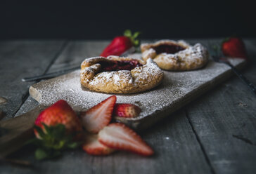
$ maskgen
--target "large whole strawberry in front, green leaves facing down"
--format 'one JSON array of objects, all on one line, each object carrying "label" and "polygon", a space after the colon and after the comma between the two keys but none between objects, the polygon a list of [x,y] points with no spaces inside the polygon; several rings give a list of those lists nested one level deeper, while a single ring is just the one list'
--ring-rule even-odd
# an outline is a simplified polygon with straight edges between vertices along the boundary
[{"label": "large whole strawberry in front, green leaves facing down", "polygon": [[32,142],[38,147],[35,157],[50,159],[59,156],[64,149],[78,147],[82,125],[68,102],[59,100],[37,116],[34,134],[37,138]]}]

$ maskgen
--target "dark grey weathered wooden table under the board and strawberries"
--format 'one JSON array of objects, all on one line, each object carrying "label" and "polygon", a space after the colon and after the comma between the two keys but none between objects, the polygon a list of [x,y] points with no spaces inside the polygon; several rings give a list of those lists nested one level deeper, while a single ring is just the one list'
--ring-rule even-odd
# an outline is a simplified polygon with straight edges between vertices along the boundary
[{"label": "dark grey weathered wooden table under the board and strawberries", "polygon": [[[188,40],[205,45],[221,39]],[[10,119],[37,105],[30,98],[32,83],[25,76],[45,74],[79,65],[99,55],[109,41],[1,41],[1,117]],[[245,39],[252,60],[243,73],[256,84],[256,39]],[[3,114],[3,112],[5,114]],[[155,150],[146,158],[117,152],[89,156],[77,149],[56,160],[35,161],[23,148],[11,159],[30,167],[0,164],[0,173],[256,173],[256,95],[233,76],[178,112],[140,133]]]}]

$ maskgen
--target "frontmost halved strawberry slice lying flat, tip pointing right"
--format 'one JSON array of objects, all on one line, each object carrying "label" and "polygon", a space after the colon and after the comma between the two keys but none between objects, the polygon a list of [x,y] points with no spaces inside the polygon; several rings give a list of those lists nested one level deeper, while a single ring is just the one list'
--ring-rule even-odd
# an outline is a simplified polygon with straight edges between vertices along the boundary
[{"label": "frontmost halved strawberry slice lying flat, tip pointing right", "polygon": [[144,156],[152,155],[153,149],[141,137],[123,123],[111,123],[98,133],[98,141],[103,145]]}]

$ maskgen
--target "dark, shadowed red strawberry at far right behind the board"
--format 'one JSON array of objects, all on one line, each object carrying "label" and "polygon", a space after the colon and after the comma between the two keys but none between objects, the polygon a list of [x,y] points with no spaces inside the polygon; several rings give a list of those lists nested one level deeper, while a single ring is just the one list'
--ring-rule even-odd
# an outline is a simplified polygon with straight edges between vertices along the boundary
[{"label": "dark, shadowed red strawberry at far right behind the board", "polygon": [[248,59],[245,44],[243,40],[238,37],[230,37],[222,42],[222,53],[231,58]]}]

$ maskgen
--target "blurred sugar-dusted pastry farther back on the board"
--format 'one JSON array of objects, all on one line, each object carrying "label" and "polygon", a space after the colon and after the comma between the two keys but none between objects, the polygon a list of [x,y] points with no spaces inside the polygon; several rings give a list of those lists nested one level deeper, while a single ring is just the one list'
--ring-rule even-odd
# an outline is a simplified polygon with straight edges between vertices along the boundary
[{"label": "blurred sugar-dusted pastry farther back on the board", "polygon": [[185,41],[160,40],[155,44],[141,44],[143,60],[152,58],[161,69],[186,71],[207,64],[209,54],[201,44],[189,45]]}]

